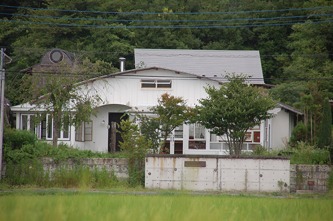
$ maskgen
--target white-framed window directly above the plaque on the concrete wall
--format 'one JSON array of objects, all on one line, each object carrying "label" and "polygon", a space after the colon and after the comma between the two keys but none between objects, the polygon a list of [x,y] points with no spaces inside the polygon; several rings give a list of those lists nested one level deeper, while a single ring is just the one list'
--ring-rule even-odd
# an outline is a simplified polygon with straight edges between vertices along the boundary
[{"label": "white-framed window directly above the plaque on the concrete wall", "polygon": [[206,129],[201,124],[190,124],[189,139],[189,149],[206,150]]}]

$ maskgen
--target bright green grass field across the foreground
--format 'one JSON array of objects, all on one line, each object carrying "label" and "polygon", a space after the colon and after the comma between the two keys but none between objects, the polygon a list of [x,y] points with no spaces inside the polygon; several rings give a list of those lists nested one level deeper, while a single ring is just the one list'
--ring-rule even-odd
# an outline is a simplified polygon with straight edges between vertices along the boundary
[{"label": "bright green grass field across the foreground", "polygon": [[2,192],[1,221],[332,221],[333,199]]}]

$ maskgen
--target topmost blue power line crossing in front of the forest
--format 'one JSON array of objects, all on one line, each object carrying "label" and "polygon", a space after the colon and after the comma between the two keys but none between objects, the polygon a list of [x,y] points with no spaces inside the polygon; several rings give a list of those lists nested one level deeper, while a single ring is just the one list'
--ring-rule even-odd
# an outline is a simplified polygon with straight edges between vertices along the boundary
[{"label": "topmost blue power line crossing in front of the forest", "polygon": [[281,12],[281,11],[297,11],[309,9],[332,8],[333,6],[325,7],[311,7],[311,8],[294,8],[294,9],[277,9],[277,10],[263,10],[263,11],[241,11],[241,12],[105,12],[105,11],[81,11],[81,10],[62,10],[50,8],[31,8],[31,7],[18,7],[9,5],[0,5],[0,7],[22,8],[22,9],[35,9],[35,10],[48,10],[48,11],[62,11],[62,12],[86,12],[86,13],[106,13],[106,14],[168,14],[168,15],[198,15],[198,14],[232,14],[232,13],[257,13],[257,12]]}]

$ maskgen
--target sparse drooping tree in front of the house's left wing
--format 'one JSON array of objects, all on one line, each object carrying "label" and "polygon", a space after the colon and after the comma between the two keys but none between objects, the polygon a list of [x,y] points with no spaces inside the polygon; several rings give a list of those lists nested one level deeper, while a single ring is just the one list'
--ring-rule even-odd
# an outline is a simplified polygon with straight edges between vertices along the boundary
[{"label": "sparse drooping tree in front of the house's left wing", "polygon": [[[42,73],[23,77],[22,97],[24,102],[34,106],[31,110],[36,113],[31,124],[46,122],[48,116],[48,124],[53,123],[53,132],[50,132],[53,133],[53,146],[57,146],[59,133],[65,131],[67,126],[78,127],[82,121],[96,115],[95,107],[101,99],[95,91],[97,88],[88,79],[97,76],[97,71],[103,72],[109,67],[104,62],[93,64],[86,59],[75,61],[73,65],[55,64]],[[115,70],[109,69],[109,73]]]}]

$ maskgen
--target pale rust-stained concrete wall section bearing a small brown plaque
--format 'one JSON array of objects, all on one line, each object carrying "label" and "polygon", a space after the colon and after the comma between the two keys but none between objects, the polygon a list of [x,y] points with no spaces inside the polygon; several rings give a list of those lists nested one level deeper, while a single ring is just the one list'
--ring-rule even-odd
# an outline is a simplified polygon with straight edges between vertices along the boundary
[{"label": "pale rust-stained concrete wall section bearing a small brown plaque", "polygon": [[149,189],[289,192],[288,156],[146,155]]}]

